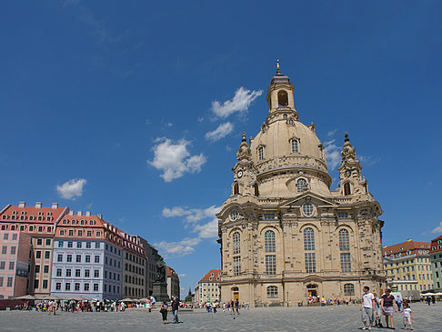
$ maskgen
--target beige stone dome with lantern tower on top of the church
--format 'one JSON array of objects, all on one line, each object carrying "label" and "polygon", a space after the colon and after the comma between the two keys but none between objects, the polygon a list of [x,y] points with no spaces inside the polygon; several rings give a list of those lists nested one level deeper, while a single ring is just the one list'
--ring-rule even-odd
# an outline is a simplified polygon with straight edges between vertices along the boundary
[{"label": "beige stone dome with lantern tower on top of the church", "polygon": [[304,125],[294,106],[288,76],[279,69],[268,87],[268,115],[255,138],[250,138],[252,160],[258,170],[262,196],[293,196],[302,193],[297,181],[302,177],[306,188],[330,195],[331,178],[327,174],[325,148],[315,133],[315,125]]}]

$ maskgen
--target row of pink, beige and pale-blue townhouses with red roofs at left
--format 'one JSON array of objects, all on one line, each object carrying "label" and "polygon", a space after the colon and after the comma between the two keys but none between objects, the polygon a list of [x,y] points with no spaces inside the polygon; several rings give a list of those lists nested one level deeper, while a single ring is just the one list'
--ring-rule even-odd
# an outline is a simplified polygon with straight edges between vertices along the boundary
[{"label": "row of pink, beige and pale-blue townhouses with red roofs at left", "polygon": [[153,291],[157,250],[90,212],[54,203],[0,211],[0,297],[116,299]]}]

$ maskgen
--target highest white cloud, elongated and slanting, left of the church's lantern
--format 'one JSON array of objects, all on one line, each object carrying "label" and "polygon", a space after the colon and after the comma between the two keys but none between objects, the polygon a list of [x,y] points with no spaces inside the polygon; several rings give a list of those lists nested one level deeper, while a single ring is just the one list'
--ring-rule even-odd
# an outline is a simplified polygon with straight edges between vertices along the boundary
[{"label": "highest white cloud, elongated and slanting, left of the church's lantern", "polygon": [[262,93],[263,90],[250,91],[241,86],[236,90],[235,96],[231,100],[226,100],[222,105],[218,101],[212,102],[212,111],[220,117],[230,116],[235,112],[244,112]]}]

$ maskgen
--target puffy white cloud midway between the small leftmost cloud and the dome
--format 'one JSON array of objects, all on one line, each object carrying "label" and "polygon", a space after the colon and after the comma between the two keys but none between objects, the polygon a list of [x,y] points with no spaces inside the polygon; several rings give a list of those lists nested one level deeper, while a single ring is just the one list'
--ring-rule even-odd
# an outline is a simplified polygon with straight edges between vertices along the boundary
[{"label": "puffy white cloud midway between the small leftmost cloud and the dome", "polygon": [[187,151],[187,146],[190,142],[181,139],[174,144],[166,137],[157,138],[154,150],[154,160],[147,161],[148,164],[163,171],[161,177],[166,182],[184,176],[188,173],[198,173],[201,171],[201,166],[206,163],[206,156],[203,154],[190,156]]}]

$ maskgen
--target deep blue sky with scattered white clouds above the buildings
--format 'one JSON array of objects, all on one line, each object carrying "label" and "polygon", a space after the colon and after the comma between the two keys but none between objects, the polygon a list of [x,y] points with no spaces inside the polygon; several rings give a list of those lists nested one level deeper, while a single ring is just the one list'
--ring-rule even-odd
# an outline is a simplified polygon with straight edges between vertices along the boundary
[{"label": "deep blue sky with scattered white clouds above the buildings", "polygon": [[384,243],[428,241],[441,16],[438,1],[2,2],[0,202],[102,213],[156,244],[186,293],[220,266],[214,212],[279,58],[334,177],[348,131]]}]

